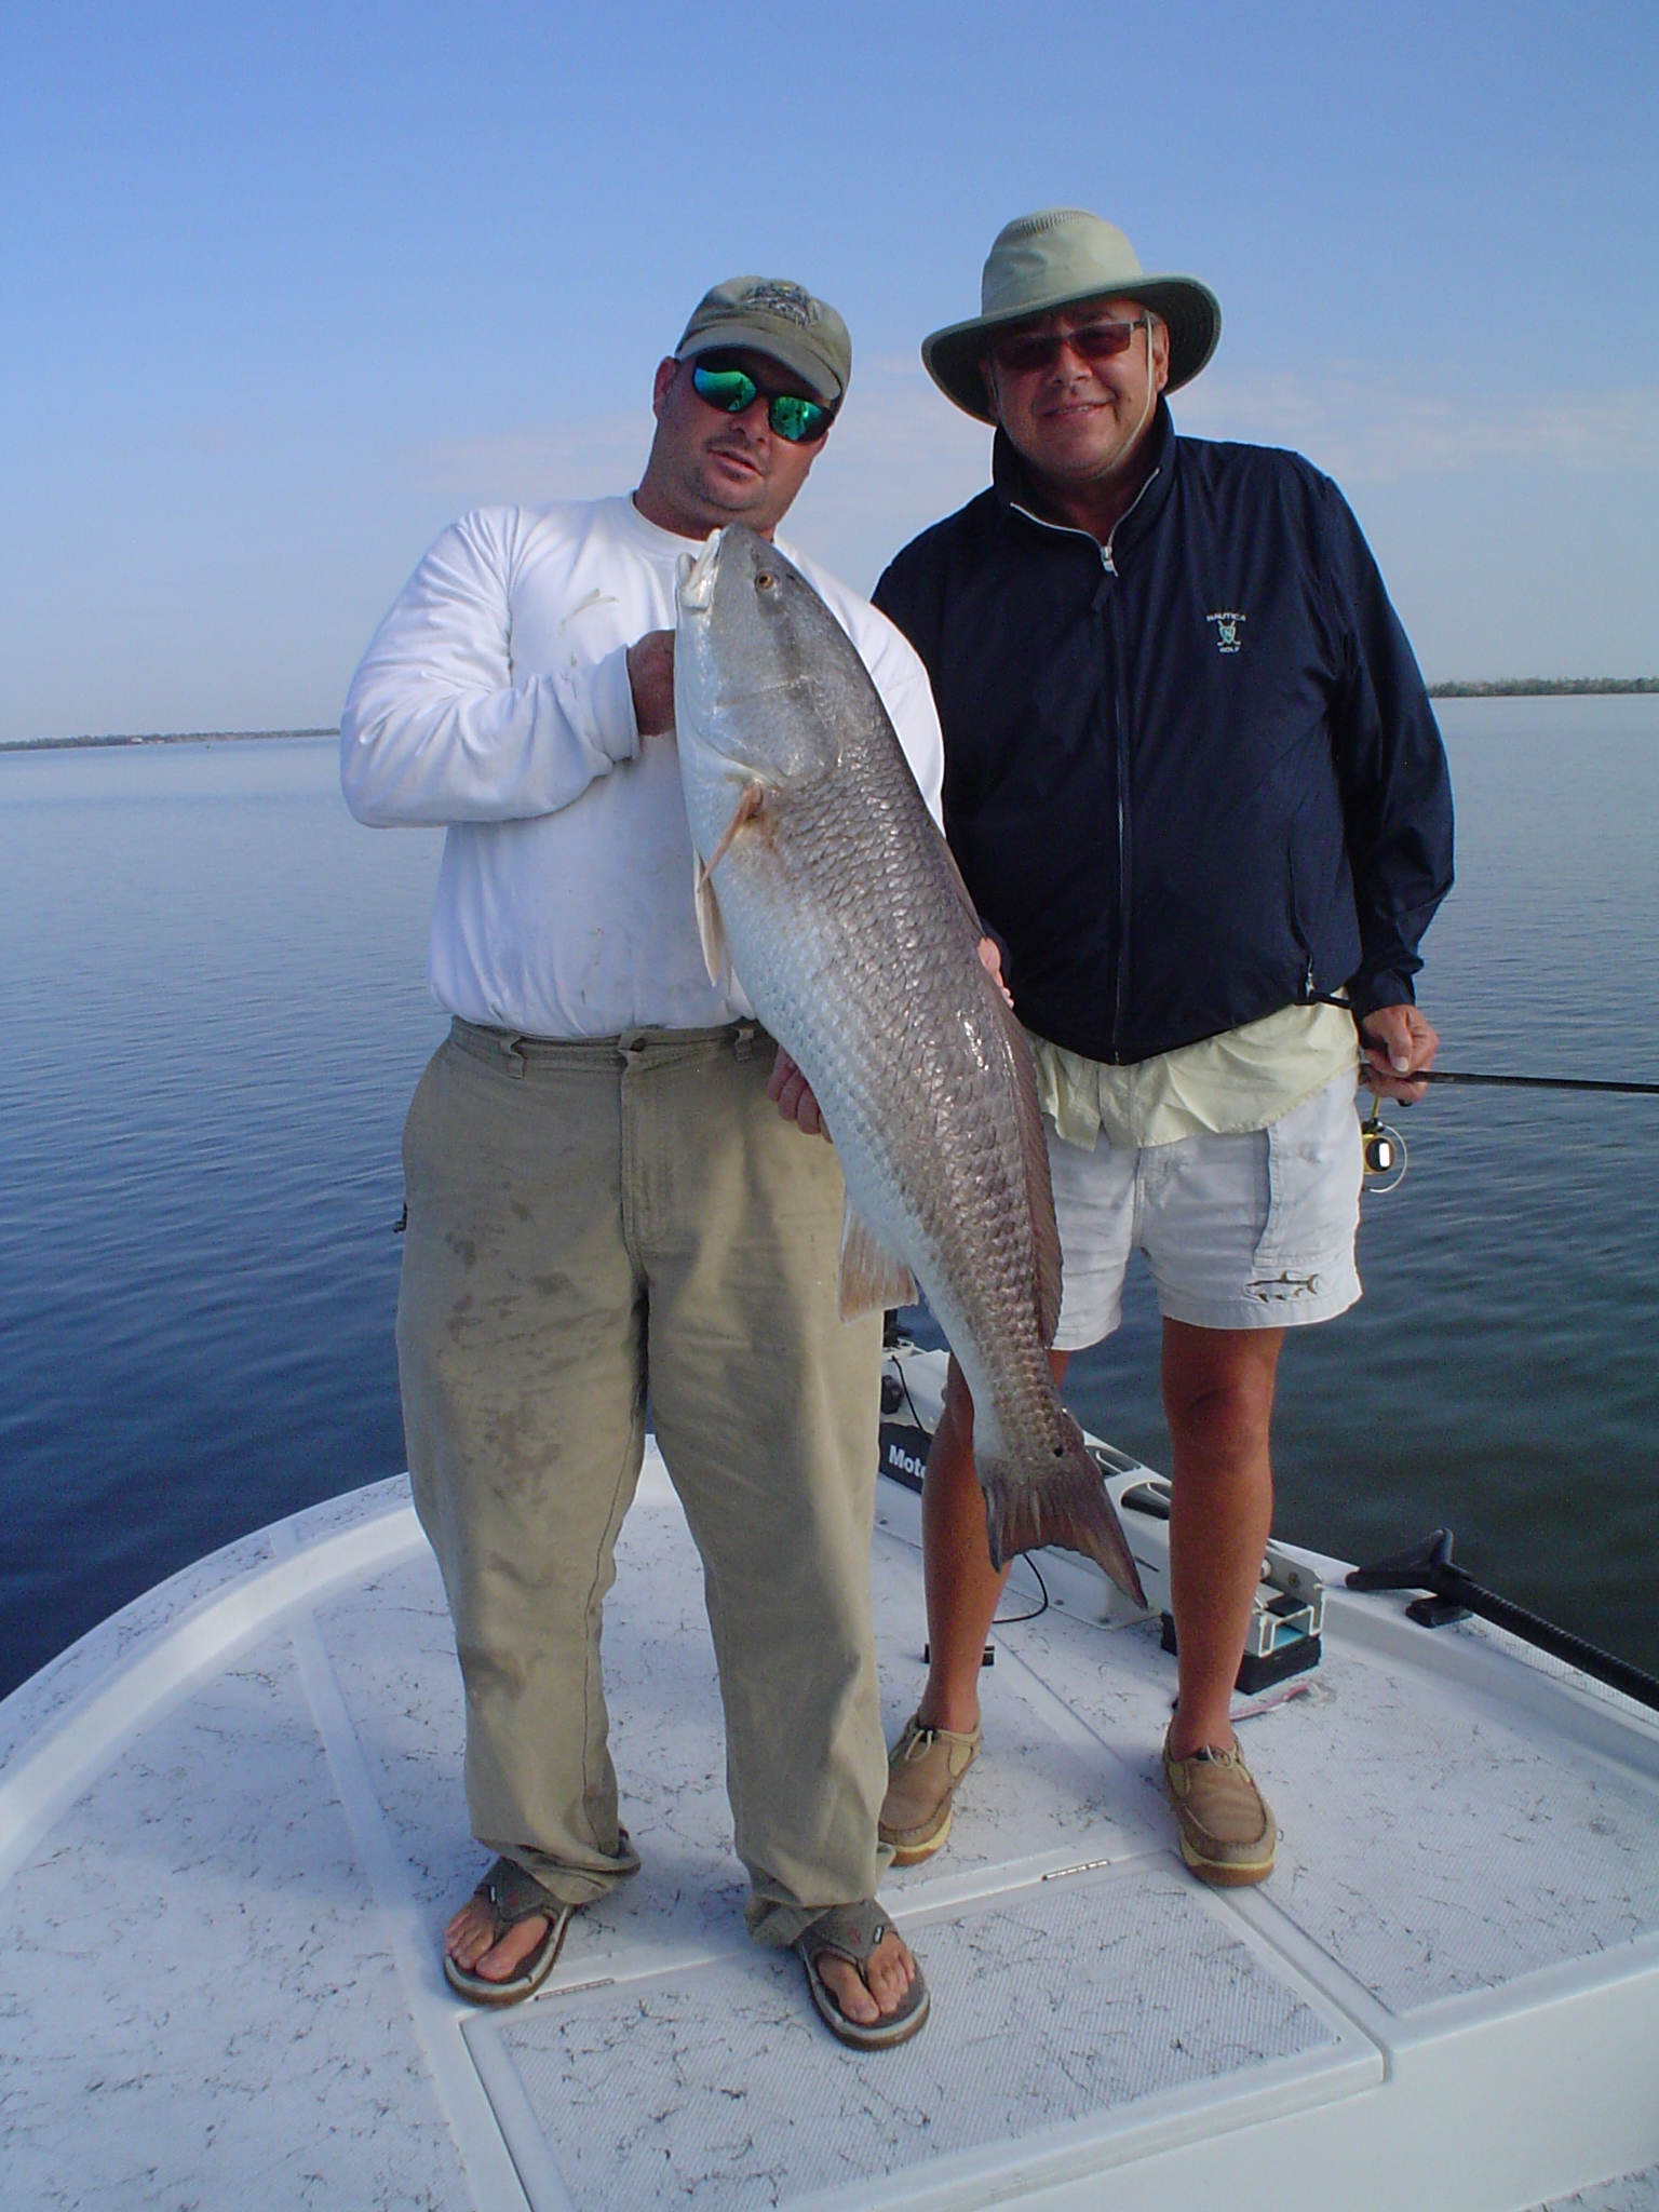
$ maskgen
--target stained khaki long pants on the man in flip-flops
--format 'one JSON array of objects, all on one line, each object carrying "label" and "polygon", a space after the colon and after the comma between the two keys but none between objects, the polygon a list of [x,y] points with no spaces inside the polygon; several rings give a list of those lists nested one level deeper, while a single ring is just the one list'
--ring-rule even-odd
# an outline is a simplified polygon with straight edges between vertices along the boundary
[{"label": "stained khaki long pants on the man in flip-flops", "polygon": [[737,1854],[765,1942],[874,1896],[878,1316],[836,1312],[834,1150],[748,1026],[456,1022],[409,1108],[398,1378],[467,1690],[473,1836],[568,1902],[617,1825],[599,1608],[650,1418],[703,1559]]}]

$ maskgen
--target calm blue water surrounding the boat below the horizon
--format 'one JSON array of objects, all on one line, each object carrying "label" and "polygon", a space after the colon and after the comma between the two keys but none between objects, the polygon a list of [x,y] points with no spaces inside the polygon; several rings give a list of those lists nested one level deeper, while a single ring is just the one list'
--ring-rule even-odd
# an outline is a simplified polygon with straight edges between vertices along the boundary
[{"label": "calm blue water surrounding the boat below the horizon", "polygon": [[[1659,701],[1453,701],[1447,1066],[1659,1079]],[[0,757],[0,1690],[188,1559],[403,1467],[398,1133],[438,838],[332,743]],[[1354,1314],[1290,1340],[1279,1531],[1438,1522],[1659,1670],[1659,1099],[1440,1091]],[[1073,1365],[1168,1464],[1157,1314]]]}]

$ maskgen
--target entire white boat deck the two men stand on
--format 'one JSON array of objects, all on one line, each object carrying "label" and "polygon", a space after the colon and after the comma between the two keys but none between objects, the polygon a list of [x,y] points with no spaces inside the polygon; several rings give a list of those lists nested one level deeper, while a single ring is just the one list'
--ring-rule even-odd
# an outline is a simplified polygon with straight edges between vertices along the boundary
[{"label": "entire white boat deck the two men stand on", "polygon": [[[880,1489],[891,1734],[922,1595]],[[1130,1528],[1157,1579],[1161,1526]],[[1157,1626],[1102,1624],[1075,1562],[1048,1582],[995,1632],[949,1849],[885,1887],[933,2017],[860,2057],[743,1936],[655,1453],[606,1613],[644,1874],[502,2013],[438,1969],[482,1854],[407,1484],[175,1577],[0,1705],[0,2203],[1659,2208],[1655,1717],[1336,1590],[1321,1668],[1241,1719],[1279,1871],[1217,1893],[1157,1781]]]}]

